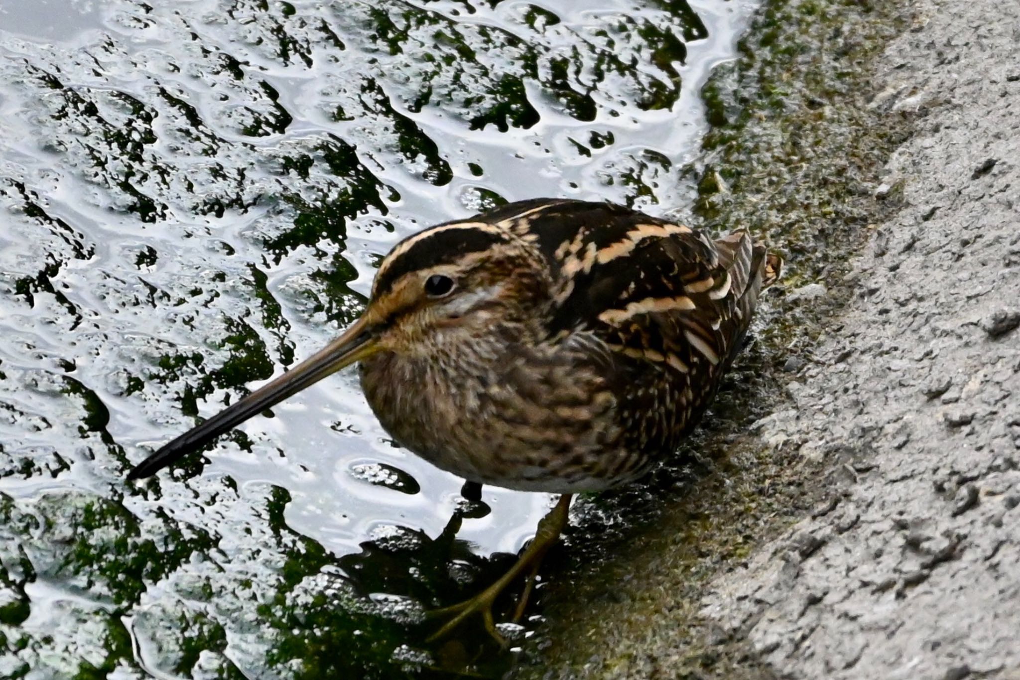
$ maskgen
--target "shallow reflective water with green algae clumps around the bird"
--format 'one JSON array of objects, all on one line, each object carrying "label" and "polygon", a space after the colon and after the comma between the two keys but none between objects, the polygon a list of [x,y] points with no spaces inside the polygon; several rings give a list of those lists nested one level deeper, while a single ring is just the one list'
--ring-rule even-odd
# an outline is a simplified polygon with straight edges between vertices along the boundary
[{"label": "shallow reflective water with green algae clumps around the bird", "polygon": [[507,668],[422,612],[549,496],[487,487],[455,541],[461,480],[352,371],[120,480],[335,336],[415,229],[682,206],[752,4],[0,0],[0,677]]}]

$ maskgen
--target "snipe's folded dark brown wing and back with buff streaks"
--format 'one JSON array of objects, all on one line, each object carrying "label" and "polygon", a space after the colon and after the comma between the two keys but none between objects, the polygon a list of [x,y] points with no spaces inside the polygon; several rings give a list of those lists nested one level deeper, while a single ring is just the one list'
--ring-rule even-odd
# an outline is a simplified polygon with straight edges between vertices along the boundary
[{"label": "snipe's folded dark brown wing and back with buff streaks", "polygon": [[625,356],[701,379],[731,361],[765,275],[765,250],[746,232],[713,242],[613,204],[537,199],[484,218],[542,254],[554,336],[592,331]]}]

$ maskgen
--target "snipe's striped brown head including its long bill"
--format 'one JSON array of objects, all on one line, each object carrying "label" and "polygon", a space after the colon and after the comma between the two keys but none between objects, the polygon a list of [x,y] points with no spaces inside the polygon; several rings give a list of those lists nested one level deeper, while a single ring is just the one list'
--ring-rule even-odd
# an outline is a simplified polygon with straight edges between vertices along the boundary
[{"label": "snipe's striped brown head including its long bill", "polygon": [[483,338],[536,332],[549,282],[533,252],[484,222],[430,227],[397,244],[362,315],[315,355],[173,439],[131,471],[148,477],[252,416],[373,355],[456,354]]}]

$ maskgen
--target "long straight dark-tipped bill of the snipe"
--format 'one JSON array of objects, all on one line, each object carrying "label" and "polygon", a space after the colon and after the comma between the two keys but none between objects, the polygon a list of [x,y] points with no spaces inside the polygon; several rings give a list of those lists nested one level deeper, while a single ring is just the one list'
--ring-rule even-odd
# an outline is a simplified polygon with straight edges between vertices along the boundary
[{"label": "long straight dark-tipped bill of the snipe", "polygon": [[374,353],[375,337],[366,328],[364,317],[358,319],[343,335],[324,350],[298,364],[275,380],[259,387],[241,401],[232,404],[162,449],[145,459],[128,473],[128,479],[143,479],[167,465],[202,449],[220,434],[232,430],[252,416],[296,395],[340,369]]}]

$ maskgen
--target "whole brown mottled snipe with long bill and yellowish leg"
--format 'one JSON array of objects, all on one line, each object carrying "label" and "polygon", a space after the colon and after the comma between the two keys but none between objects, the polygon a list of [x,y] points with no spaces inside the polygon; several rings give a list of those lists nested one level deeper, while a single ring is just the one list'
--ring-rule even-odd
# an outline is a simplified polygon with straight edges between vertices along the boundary
[{"label": "whole brown mottled snipe with long bill and yellowish leg", "polygon": [[440,224],[394,247],[339,338],[129,479],[360,362],[368,403],[407,449],[474,484],[563,494],[514,568],[438,635],[472,612],[493,631],[493,599],[533,576],[570,494],[638,477],[696,424],[779,267],[747,232],[712,241],[606,203],[537,199]]}]

